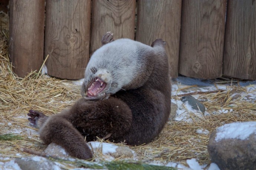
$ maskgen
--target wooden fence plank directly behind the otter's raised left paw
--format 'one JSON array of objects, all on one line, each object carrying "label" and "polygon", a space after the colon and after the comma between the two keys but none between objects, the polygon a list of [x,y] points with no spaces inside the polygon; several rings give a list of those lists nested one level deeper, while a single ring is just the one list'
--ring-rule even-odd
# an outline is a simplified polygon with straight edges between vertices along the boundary
[{"label": "wooden fence plank directly behind the otter's raised left paw", "polygon": [[135,0],[92,1],[91,54],[101,47],[101,37],[108,31],[115,39],[134,40],[135,4]]}]

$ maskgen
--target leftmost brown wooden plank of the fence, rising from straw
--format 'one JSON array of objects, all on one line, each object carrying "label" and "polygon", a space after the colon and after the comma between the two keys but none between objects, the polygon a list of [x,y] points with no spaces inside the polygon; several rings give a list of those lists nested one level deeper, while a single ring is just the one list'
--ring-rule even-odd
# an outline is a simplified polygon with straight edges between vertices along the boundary
[{"label": "leftmost brown wooden plank of the fence, rising from straw", "polygon": [[19,77],[43,64],[44,21],[45,0],[10,0],[9,54]]}]

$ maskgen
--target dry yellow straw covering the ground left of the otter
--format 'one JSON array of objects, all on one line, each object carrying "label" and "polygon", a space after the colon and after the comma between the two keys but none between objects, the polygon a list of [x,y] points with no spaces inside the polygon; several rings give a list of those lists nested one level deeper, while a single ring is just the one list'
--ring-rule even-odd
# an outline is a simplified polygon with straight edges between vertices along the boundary
[{"label": "dry yellow straw covering the ground left of the otter", "polygon": [[57,113],[79,98],[80,87],[67,80],[42,76],[36,71],[23,79],[17,77],[8,57],[8,16],[0,13],[0,17],[0,135],[14,133],[22,136],[19,140],[0,140],[0,157],[20,157],[19,154],[16,156],[19,146],[35,150],[45,148],[39,141],[37,129],[28,124],[26,114],[29,109],[46,115]]}]

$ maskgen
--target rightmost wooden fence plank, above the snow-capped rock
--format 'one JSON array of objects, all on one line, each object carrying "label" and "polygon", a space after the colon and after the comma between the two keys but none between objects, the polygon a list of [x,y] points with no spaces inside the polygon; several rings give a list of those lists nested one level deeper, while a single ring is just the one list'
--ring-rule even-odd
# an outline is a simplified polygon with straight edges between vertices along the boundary
[{"label": "rightmost wooden fence plank, above the snow-capped rock", "polygon": [[223,74],[256,79],[256,1],[229,0]]}]

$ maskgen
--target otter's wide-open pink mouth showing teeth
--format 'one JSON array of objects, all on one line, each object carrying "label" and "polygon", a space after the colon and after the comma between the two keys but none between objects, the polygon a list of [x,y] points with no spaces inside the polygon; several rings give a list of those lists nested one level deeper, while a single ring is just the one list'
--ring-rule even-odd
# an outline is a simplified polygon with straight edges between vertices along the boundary
[{"label": "otter's wide-open pink mouth showing teeth", "polygon": [[99,93],[104,91],[105,88],[106,88],[106,83],[101,79],[99,79],[98,77],[96,77],[94,81],[91,82],[91,84],[87,89],[87,96],[88,97],[98,96]]}]

